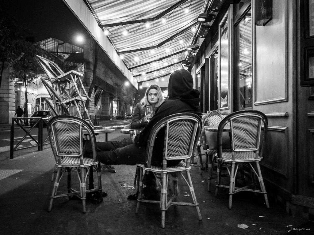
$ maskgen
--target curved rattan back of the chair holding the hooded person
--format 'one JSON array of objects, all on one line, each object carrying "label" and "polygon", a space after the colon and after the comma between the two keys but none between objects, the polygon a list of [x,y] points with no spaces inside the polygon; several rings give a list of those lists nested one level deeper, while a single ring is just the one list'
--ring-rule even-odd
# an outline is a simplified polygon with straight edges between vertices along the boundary
[{"label": "curved rattan back of the chair holding the hooded person", "polygon": [[147,168],[151,164],[156,136],[162,128],[165,128],[163,168],[166,169],[167,160],[191,159],[200,137],[201,118],[193,113],[177,113],[160,120],[151,131],[147,143]]}]

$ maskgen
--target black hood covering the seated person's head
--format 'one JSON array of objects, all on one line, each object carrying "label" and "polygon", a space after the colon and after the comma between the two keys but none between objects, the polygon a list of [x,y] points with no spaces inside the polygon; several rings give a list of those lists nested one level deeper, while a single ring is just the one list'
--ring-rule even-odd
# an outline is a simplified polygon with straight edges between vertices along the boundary
[{"label": "black hood covering the seated person's head", "polygon": [[201,99],[199,91],[193,89],[193,78],[189,71],[179,69],[174,71],[169,78],[169,99],[180,99],[193,106],[199,106]]}]

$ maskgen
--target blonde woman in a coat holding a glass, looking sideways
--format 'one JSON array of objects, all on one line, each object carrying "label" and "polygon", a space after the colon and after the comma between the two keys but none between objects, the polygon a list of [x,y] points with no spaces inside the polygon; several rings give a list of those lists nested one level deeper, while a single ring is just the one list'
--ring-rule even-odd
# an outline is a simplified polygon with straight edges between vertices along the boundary
[{"label": "blonde woman in a coat holding a glass, looking sideways", "polygon": [[164,98],[160,87],[158,85],[149,86],[141,102],[137,103],[134,108],[130,128],[144,128],[162,102],[164,102]]}]

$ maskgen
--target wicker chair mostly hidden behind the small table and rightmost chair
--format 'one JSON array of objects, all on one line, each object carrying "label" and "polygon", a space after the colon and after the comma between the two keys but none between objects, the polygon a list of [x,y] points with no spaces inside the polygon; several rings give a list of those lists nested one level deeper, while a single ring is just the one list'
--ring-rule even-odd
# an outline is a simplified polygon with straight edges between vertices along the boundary
[{"label": "wicker chair mostly hidden behind the small table and rightmost chair", "polygon": [[[212,176],[213,172],[213,166],[215,162],[215,153],[217,153],[217,134],[214,132],[208,133],[204,131],[204,126],[218,126],[221,120],[223,119],[223,116],[227,116],[229,113],[227,112],[217,112],[217,111],[211,111],[207,115],[203,116],[202,118],[202,132],[201,132],[201,138],[202,138],[202,146],[203,150],[206,154],[206,159],[208,163],[208,177],[207,177],[207,190],[210,191],[210,182],[212,179],[215,179],[216,176]],[[224,133],[224,149],[223,152],[231,152],[230,144],[230,138],[228,136],[228,133]]]}]

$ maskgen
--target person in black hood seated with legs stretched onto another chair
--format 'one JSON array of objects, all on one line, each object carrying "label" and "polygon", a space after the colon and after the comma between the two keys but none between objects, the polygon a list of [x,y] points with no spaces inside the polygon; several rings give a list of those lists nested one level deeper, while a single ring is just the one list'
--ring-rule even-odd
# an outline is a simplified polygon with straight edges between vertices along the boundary
[{"label": "person in black hood seated with legs stretched onto another chair", "polygon": [[[135,165],[143,164],[146,157],[146,145],[149,134],[156,123],[161,119],[176,113],[190,112],[202,117],[200,110],[199,91],[193,89],[193,78],[190,72],[181,69],[176,70],[170,75],[168,85],[168,97],[155,111],[155,115],[150,119],[149,123],[143,131],[136,135],[134,143],[124,144],[113,143],[115,146],[110,151],[102,151],[106,149],[107,143],[97,143],[98,160],[106,165]],[[160,130],[156,138],[154,146],[154,154],[152,156],[152,165],[162,165],[163,146],[164,146],[165,130]],[[121,146],[121,147],[120,147]],[[123,147],[122,147],[123,146]],[[92,156],[85,148],[84,156]],[[106,149],[107,150],[107,149]],[[179,161],[179,160],[178,160]],[[178,161],[170,161],[167,166],[176,165]]]}]

